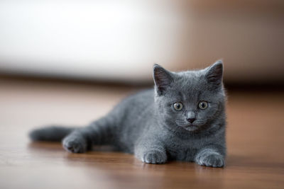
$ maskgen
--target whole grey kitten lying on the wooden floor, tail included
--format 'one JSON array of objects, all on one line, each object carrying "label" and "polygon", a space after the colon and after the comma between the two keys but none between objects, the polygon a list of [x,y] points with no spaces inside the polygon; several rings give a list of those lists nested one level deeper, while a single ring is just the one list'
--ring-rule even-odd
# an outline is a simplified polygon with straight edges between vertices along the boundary
[{"label": "whole grey kitten lying on the wooden floor, tail included", "polygon": [[154,89],[121,101],[87,127],[44,127],[33,140],[61,141],[73,153],[110,144],[148,164],[195,161],[222,167],[226,156],[223,64],[198,71],[171,72],[153,67]]}]

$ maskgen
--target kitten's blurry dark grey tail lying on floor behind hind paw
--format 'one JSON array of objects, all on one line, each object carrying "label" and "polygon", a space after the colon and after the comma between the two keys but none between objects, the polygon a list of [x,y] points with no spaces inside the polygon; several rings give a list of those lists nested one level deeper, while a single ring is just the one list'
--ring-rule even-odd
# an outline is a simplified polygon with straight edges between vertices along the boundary
[{"label": "kitten's blurry dark grey tail lying on floor behind hind paw", "polygon": [[75,130],[75,127],[50,126],[32,130],[28,135],[33,141],[60,142],[73,130]]}]

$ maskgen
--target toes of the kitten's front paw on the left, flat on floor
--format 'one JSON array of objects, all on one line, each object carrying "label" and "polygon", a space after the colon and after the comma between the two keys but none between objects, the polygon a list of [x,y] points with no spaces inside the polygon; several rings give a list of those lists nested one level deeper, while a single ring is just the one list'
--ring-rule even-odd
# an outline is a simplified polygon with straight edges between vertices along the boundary
[{"label": "toes of the kitten's front paw on the left, flat on floor", "polygon": [[167,154],[164,151],[146,151],[141,160],[147,164],[165,164]]}]

